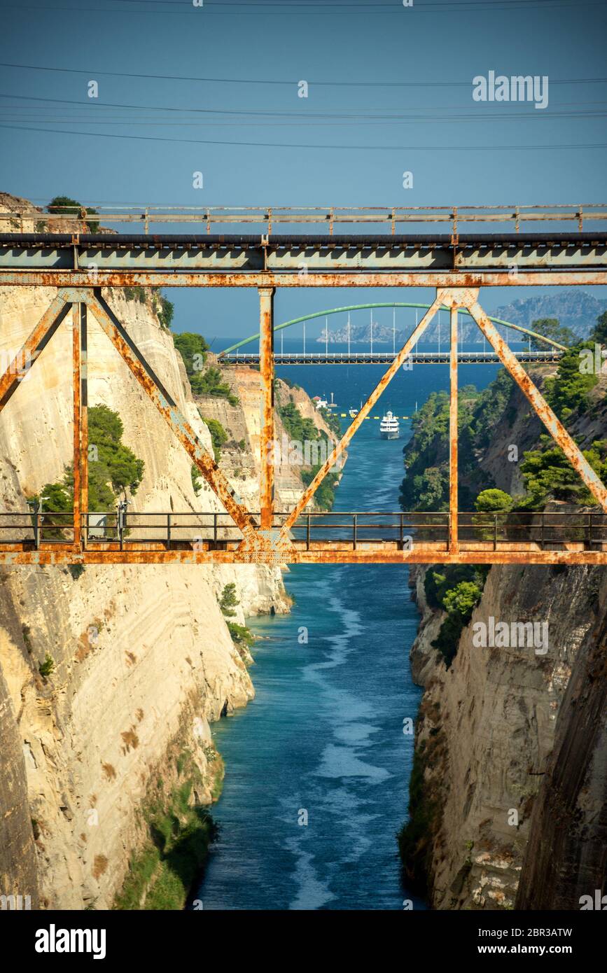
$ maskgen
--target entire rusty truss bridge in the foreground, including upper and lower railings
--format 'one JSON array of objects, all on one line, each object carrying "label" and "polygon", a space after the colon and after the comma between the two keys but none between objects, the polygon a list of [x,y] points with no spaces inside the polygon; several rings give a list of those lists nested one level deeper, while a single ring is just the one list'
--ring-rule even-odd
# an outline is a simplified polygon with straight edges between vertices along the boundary
[{"label": "entire rusty truss bridge in the foreground, including upper and lower railings", "polygon": [[[37,214],[34,214],[37,215]],[[86,210],[41,215],[42,232],[0,234],[0,287],[54,287],[55,295],[35,323],[7,371],[0,376],[0,412],[18,392],[22,363],[35,360],[61,323],[72,324],[74,507],[68,515],[29,511],[0,513],[0,563],[209,563],[261,562],[442,562],[607,564],[607,489],[582,451],[533,383],[524,362],[501,337],[479,303],[483,287],[596,285],[607,283],[607,206],[431,207],[413,209],[228,209],[158,213],[99,212],[108,223],[141,220],[144,234],[86,232]],[[0,213],[7,220],[32,220],[32,213]],[[204,222],[205,234],[151,234],[150,222]],[[19,222],[20,221],[20,222]],[[71,232],[48,232],[60,221]],[[574,228],[571,222],[574,222]],[[448,233],[426,226],[448,223]],[[462,223],[482,229],[460,234]],[[523,223],[550,224],[548,232],[523,230]],[[213,234],[213,223],[263,224],[259,234]],[[321,224],[329,233],[273,234],[275,224]],[[495,232],[493,224],[512,224]],[[355,229],[336,233],[348,224]],[[399,234],[401,225],[422,232]],[[596,224],[599,229],[588,229]],[[38,224],[37,224],[38,225]],[[379,230],[377,229],[379,225]],[[489,226],[487,232],[482,226]],[[563,226],[565,229],[563,229]],[[372,229],[370,229],[372,227]],[[435,227],[436,230],[436,227]],[[103,287],[253,287],[260,302],[261,482],[260,511],[242,505],[213,457],[105,301]],[[339,442],[290,511],[274,506],[273,299],[283,287],[430,287],[435,298],[408,340],[381,358],[383,377],[350,422]],[[1,292],[0,292],[1,293]],[[319,515],[308,505],[336,465],[397,371],[441,308],[449,313],[448,362],[449,498],[445,513]],[[466,360],[458,348],[457,314],[462,309],[478,324],[494,361],[507,369],[565,453],[598,506],[578,512],[472,514],[458,509],[457,366]],[[219,498],[225,513],[127,513],[99,515],[88,504],[87,348],[89,313],[125,360],[166,423]],[[547,342],[550,343],[550,342]],[[551,357],[552,355],[552,357]],[[546,355],[553,361],[553,346]],[[227,360],[228,356],[226,356]],[[278,359],[280,360],[280,359]],[[414,359],[413,359],[414,360]],[[530,359],[527,359],[529,361]],[[242,358],[237,358],[240,363]],[[375,361],[375,359],[371,359]],[[303,361],[301,362],[304,363]],[[369,363],[369,362],[365,362]],[[67,366],[69,367],[69,366]],[[63,521],[61,521],[63,518]],[[49,523],[53,529],[49,529]]]}]

